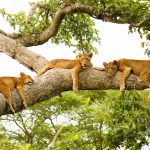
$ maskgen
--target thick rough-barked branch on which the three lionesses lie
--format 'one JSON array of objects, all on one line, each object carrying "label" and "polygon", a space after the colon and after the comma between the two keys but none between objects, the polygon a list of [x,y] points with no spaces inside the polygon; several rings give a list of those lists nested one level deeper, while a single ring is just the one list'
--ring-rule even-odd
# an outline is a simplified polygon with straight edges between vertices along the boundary
[{"label": "thick rough-barked branch on which the three lionesses lie", "polygon": [[[80,90],[119,89],[120,75],[121,73],[118,72],[113,78],[110,78],[103,71],[87,69],[80,73],[79,87]],[[147,87],[144,82],[139,82],[133,74],[127,79],[128,90],[143,90]],[[69,69],[51,69],[37,78],[33,84],[25,87],[29,106],[69,90],[72,90],[71,70]],[[22,100],[15,89],[12,92],[12,100],[16,111],[24,109]],[[8,113],[11,112],[6,105],[4,96],[1,94],[0,115]]]}]

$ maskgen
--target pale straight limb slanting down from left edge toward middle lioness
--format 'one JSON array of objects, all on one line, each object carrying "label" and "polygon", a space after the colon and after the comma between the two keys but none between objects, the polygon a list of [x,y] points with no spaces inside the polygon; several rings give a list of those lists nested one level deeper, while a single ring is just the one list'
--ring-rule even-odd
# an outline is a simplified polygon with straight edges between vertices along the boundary
[{"label": "pale straight limb slanting down from left edge toward middle lioness", "polygon": [[38,72],[48,62],[41,55],[22,46],[17,40],[13,40],[2,34],[0,34],[0,52],[7,54],[35,72]]}]

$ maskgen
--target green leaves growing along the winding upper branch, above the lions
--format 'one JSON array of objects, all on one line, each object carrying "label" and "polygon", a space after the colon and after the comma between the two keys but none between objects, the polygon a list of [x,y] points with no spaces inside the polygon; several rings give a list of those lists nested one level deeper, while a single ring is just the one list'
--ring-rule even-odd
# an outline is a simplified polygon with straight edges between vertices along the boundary
[{"label": "green leaves growing along the winding upper branch, above the lions", "polygon": [[[57,35],[50,39],[51,42],[73,46],[75,52],[91,51],[97,53],[94,45],[100,42],[100,38],[98,31],[94,28],[93,18],[114,23],[128,23],[131,33],[138,31],[141,37],[149,37],[149,0],[41,0],[31,3],[31,5],[36,4],[38,7],[34,10],[29,22],[26,21],[24,12],[9,14],[1,9],[0,13],[19,32],[18,38],[31,35],[38,39],[38,35],[52,24],[55,13],[59,9],[75,3],[91,6],[91,14],[76,11],[65,15]],[[38,43],[38,41],[36,42]]]}]

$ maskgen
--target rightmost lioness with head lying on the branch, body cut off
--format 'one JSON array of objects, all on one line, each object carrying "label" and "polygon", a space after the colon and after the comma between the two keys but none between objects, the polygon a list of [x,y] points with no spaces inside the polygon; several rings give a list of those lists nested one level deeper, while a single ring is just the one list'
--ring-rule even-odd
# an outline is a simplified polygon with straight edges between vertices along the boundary
[{"label": "rightmost lioness with head lying on the branch, body cut off", "polygon": [[125,90],[125,80],[132,72],[140,76],[140,79],[150,87],[150,60],[134,60],[134,59],[120,59],[112,62],[103,63],[105,71],[113,76],[117,71],[121,71],[120,90]]}]

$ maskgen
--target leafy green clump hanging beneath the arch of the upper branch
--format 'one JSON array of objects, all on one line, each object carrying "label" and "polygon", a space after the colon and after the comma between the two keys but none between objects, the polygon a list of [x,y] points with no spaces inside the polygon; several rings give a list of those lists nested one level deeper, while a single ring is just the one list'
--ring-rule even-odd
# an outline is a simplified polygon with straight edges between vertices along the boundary
[{"label": "leafy green clump hanging beneath the arch of the upper branch", "polygon": [[65,43],[69,47],[75,47],[74,52],[97,53],[97,48],[93,46],[93,43],[100,43],[100,38],[94,25],[94,20],[86,14],[67,15],[57,36],[52,38],[52,42],[55,44]]}]

